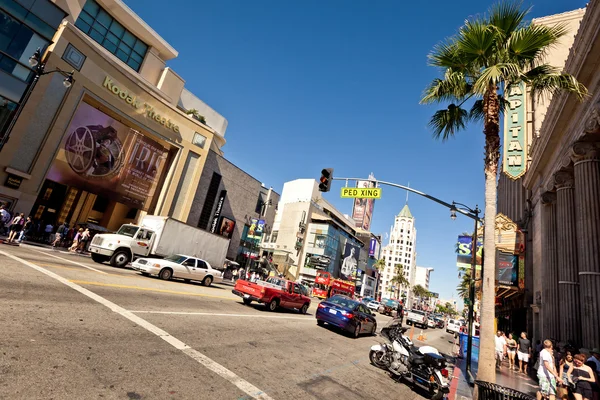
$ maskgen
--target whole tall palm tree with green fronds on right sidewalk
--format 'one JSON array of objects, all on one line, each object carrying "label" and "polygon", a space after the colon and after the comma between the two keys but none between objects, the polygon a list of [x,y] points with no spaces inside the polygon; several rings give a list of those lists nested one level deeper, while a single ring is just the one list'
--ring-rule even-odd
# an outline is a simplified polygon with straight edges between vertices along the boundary
[{"label": "whole tall palm tree with green fronds on right sidewalk", "polygon": [[[425,89],[421,103],[450,103],[436,111],[429,125],[435,138],[447,140],[469,122],[483,122],[485,135],[484,275],[494,276],[494,222],[496,178],[500,160],[500,114],[504,93],[525,84],[532,95],[565,91],[583,100],[587,89],[570,74],[544,62],[548,50],[566,33],[563,25],[552,27],[525,22],[529,9],[499,3],[489,15],[467,20],[458,33],[436,45],[430,64],[443,72]],[[473,101],[474,100],[474,101]],[[471,105],[467,111],[465,103]],[[494,279],[483,283],[481,306],[480,380],[495,382]]]}]

